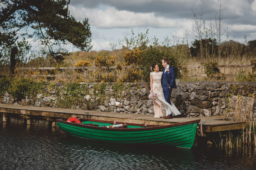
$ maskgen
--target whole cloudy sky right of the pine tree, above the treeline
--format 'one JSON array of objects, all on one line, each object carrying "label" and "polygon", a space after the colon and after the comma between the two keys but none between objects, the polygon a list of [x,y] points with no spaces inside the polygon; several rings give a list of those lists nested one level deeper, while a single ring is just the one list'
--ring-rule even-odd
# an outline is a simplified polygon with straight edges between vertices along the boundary
[{"label": "whole cloudy sky right of the pine tree, above the treeline", "polygon": [[[203,9],[206,25],[215,24],[221,4],[222,31],[230,32],[229,40],[244,43],[256,40],[256,0],[71,0],[69,10],[77,20],[89,19],[92,50],[111,50],[109,41],[117,42],[149,29],[154,36],[181,42],[187,32],[188,41],[196,39],[193,12]],[[192,12],[193,10],[193,12]]]}]

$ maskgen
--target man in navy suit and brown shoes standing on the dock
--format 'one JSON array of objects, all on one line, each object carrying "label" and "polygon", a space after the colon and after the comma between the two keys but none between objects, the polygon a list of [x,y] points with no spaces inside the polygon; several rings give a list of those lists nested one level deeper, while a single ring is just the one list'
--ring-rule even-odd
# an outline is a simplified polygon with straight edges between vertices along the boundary
[{"label": "man in navy suit and brown shoes standing on the dock", "polygon": [[[171,91],[173,88],[177,88],[175,83],[175,70],[169,65],[168,58],[162,59],[162,65],[164,67],[163,74],[161,77],[161,84],[163,87],[164,98],[166,102],[171,105]],[[172,114],[165,116],[164,119],[173,118]]]}]

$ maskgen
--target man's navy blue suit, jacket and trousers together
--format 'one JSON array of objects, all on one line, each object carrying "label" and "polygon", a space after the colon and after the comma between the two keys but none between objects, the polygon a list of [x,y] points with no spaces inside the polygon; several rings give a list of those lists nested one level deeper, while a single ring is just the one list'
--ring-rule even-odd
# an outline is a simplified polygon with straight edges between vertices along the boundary
[{"label": "man's navy blue suit, jacket and trousers together", "polygon": [[177,86],[175,83],[175,69],[170,65],[168,69],[166,70],[166,72],[164,72],[165,69],[163,70],[161,84],[163,87],[164,98],[166,102],[168,102],[171,105],[171,91],[173,88],[177,88]]}]

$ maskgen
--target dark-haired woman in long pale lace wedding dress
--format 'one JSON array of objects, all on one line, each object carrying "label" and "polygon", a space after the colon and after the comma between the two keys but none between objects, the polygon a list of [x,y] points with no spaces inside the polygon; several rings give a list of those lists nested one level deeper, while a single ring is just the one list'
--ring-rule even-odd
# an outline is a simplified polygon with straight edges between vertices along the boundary
[{"label": "dark-haired woman in long pale lace wedding dress", "polygon": [[157,93],[157,97],[153,100],[154,106],[154,117],[161,118],[172,114],[177,116],[180,114],[177,107],[171,101],[171,105],[165,101],[163,88],[161,86],[161,77],[163,72],[159,72],[159,67],[157,64],[151,66],[150,73],[150,93]]}]

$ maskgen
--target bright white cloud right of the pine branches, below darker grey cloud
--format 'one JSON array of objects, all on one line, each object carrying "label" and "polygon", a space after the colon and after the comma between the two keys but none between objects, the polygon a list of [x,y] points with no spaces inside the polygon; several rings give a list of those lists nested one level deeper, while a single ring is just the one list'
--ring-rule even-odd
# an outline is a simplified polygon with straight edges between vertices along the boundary
[{"label": "bright white cloud right of the pine branches, below darker grey cloud", "polygon": [[[89,23],[97,28],[130,28],[149,26],[155,28],[172,28],[177,26],[177,21],[154,13],[135,13],[118,11],[114,7],[106,10],[69,7],[71,14],[78,20],[89,19]],[[82,18],[83,17],[83,18]]]}]

